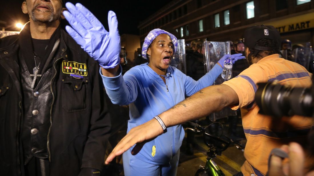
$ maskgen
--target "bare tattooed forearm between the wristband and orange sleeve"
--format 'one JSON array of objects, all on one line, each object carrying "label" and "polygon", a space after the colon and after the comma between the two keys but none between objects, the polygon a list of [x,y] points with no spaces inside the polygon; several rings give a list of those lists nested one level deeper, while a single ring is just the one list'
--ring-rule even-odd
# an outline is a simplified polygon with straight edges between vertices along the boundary
[{"label": "bare tattooed forearm between the wristband and orange sleeve", "polygon": [[166,127],[171,127],[220,111],[238,102],[238,96],[231,87],[214,85],[198,91],[159,116]]}]

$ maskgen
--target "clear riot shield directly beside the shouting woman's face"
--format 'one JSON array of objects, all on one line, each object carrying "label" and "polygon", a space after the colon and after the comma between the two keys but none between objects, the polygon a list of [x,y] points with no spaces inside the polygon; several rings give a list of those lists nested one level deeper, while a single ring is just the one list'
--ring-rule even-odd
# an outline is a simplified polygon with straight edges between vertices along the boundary
[{"label": "clear riot shield directly beside the shouting woman's face", "polygon": [[185,60],[185,40],[178,40],[178,47],[176,48],[176,53],[173,54],[173,58],[170,63],[171,66],[176,67],[184,74],[187,74],[186,60]]}]

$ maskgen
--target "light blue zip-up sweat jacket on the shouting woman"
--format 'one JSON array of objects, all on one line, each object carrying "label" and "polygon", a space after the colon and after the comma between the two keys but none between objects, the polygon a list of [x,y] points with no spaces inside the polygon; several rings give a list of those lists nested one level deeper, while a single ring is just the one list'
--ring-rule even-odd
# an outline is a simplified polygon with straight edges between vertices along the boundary
[{"label": "light blue zip-up sweat jacket on the shouting woman", "polygon": [[[170,73],[170,77],[165,79],[165,84],[146,63],[131,68],[123,77],[121,66],[120,75],[116,77],[101,75],[112,103],[130,105],[130,120],[127,127],[127,132],[129,132],[133,127],[148,122],[154,116],[183,101],[186,96],[191,96],[204,87],[213,85],[221,72],[222,68],[216,64],[210,72],[195,81],[176,67],[169,66],[167,73]],[[184,135],[181,125],[168,127],[167,132],[145,143],[134,157],[145,163],[169,164],[171,158],[179,151]],[[131,153],[133,147],[127,152]],[[155,153],[153,148],[155,148]]]}]

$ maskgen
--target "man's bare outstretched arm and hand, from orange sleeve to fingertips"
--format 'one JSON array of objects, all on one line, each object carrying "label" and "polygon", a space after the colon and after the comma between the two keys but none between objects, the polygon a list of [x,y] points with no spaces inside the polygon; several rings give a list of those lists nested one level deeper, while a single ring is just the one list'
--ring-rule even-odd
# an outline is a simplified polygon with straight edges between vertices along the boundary
[{"label": "man's bare outstretched arm and hand, from orange sleeve to fingertips", "polygon": [[[168,111],[161,113],[159,116],[166,127],[171,127],[206,116],[226,106],[237,104],[238,102],[238,95],[231,87],[228,85],[214,85],[202,89]],[[121,155],[135,144],[137,145],[133,148],[132,154],[138,153],[146,141],[162,133],[163,129],[156,119],[152,119],[138,127],[132,128],[116,145],[105,163],[110,163],[113,158]]]}]

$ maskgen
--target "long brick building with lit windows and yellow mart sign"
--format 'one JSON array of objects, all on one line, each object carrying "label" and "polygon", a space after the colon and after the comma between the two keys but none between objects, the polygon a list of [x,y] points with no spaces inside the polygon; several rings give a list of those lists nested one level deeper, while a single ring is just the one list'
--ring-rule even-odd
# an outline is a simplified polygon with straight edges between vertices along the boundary
[{"label": "long brick building with lit windows and yellow mart sign", "polygon": [[[149,10],[149,9],[148,9]],[[154,28],[165,29],[188,43],[194,39],[234,41],[250,26],[275,26],[282,39],[314,44],[312,0],[173,0],[142,21],[140,42]]]}]

